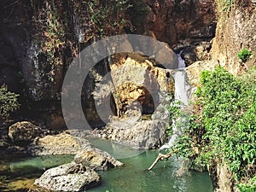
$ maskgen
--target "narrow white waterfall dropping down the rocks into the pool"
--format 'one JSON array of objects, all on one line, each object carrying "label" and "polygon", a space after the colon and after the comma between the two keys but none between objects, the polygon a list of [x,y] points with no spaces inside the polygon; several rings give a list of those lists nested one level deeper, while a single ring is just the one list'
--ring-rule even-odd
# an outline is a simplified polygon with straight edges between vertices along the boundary
[{"label": "narrow white waterfall dropping down the rocks into the pool", "polygon": [[[181,102],[181,108],[184,108],[188,106],[189,104],[189,93],[190,93],[190,85],[187,82],[187,74],[184,71],[185,62],[183,61],[181,57],[182,51],[177,54],[178,58],[178,68],[173,73],[173,78],[175,82],[175,95],[174,95],[174,101],[180,101]],[[177,125],[178,121],[178,125]],[[178,119],[172,119],[172,137],[170,137],[168,143],[164,144],[160,147],[160,150],[171,148],[176,140],[177,137],[180,136],[183,132],[183,128],[185,125],[188,125],[186,117],[179,117]]]}]

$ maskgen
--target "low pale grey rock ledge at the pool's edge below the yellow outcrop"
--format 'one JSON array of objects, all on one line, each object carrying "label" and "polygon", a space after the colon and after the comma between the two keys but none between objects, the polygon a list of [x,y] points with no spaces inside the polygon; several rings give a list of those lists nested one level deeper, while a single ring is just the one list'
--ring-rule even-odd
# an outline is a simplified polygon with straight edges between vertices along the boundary
[{"label": "low pale grey rock ledge at the pool's edge below the yellow outcrop", "polygon": [[97,131],[97,134],[99,137],[108,138],[132,148],[159,148],[166,142],[169,112],[165,109],[165,105],[170,102],[170,99],[167,96],[160,96],[162,102],[147,120],[143,120],[140,112],[136,113],[134,109],[128,110],[125,118],[113,119],[103,130]]}]

